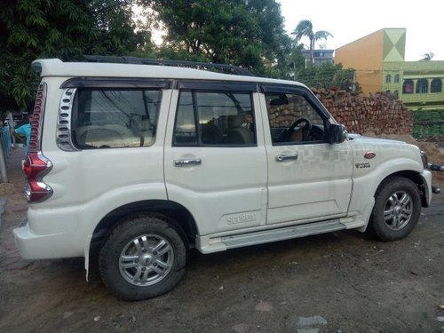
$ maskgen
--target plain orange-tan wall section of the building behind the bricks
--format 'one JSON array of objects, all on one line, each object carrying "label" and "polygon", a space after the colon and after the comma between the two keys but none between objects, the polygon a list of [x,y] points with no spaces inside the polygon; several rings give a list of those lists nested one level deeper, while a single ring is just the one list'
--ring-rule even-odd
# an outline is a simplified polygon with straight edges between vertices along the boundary
[{"label": "plain orange-tan wall section of the building behind the bricks", "polygon": [[382,89],[384,29],[362,37],[335,50],[335,63],[356,70],[356,81],[362,92]]}]

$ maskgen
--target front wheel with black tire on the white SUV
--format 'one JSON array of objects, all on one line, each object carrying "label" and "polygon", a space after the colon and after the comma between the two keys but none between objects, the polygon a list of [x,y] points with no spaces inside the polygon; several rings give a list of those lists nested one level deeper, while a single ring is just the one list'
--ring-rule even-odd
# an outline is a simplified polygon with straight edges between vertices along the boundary
[{"label": "front wheel with black tire on the white SUV", "polygon": [[412,232],[421,213],[421,195],[408,178],[387,178],[375,194],[369,234],[384,242],[397,241]]}]

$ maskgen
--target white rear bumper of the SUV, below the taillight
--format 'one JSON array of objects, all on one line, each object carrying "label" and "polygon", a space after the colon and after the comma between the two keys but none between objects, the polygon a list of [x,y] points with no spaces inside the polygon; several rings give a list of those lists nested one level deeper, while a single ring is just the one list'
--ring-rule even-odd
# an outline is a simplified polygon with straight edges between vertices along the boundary
[{"label": "white rear bumper of the SUV, below the taillight", "polygon": [[24,219],[19,227],[13,230],[15,246],[20,256],[25,259],[55,259],[83,257],[83,251],[72,246],[72,235],[36,234]]}]

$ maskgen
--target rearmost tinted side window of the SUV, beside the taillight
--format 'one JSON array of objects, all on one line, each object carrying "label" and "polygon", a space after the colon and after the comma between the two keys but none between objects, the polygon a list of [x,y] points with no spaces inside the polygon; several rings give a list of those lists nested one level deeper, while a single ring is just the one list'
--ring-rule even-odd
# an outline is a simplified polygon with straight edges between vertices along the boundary
[{"label": "rearmost tinted side window of the SUV, beside the taillight", "polygon": [[158,90],[78,90],[73,106],[75,147],[147,147],[155,142]]}]

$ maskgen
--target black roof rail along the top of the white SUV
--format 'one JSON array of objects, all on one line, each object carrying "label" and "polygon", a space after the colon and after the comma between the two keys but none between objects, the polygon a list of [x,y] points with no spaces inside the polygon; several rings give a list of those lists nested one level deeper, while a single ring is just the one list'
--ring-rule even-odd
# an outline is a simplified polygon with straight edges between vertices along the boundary
[{"label": "black roof rail along the top of the white SUV", "polygon": [[160,65],[172,67],[187,67],[209,70],[210,68],[218,69],[223,73],[254,76],[250,70],[243,67],[227,64],[214,64],[212,62],[186,61],[186,60],[170,60],[170,59],[150,59],[139,57],[115,57],[115,56],[95,56],[83,55],[84,59],[91,62],[117,62],[125,64],[139,64],[139,65]]}]

